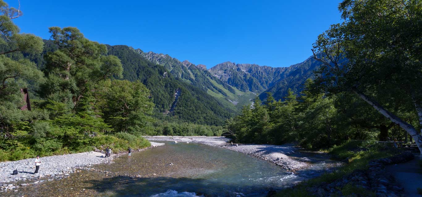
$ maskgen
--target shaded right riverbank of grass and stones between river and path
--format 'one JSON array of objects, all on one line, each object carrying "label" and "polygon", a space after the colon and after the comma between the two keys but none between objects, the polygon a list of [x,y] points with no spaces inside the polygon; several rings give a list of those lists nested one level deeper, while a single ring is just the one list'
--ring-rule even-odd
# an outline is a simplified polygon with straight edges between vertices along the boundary
[{"label": "shaded right riverbank of grass and stones between river and path", "polygon": [[385,170],[414,159],[410,152],[400,152],[364,142],[347,142],[327,150],[346,164],[333,173],[303,182],[275,194],[276,197],[399,197],[403,187]]}]

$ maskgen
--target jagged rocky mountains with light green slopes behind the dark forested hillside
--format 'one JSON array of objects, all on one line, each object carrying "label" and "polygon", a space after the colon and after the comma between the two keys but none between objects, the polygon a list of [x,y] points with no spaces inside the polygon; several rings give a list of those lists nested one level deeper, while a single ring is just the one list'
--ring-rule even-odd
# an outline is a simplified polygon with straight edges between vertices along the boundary
[{"label": "jagged rocky mountains with light green slopes behind the dark forested hillside", "polygon": [[235,105],[239,100],[244,101],[240,97],[245,96],[251,99],[251,96],[259,94],[263,100],[266,92],[271,92],[276,100],[283,100],[288,89],[298,93],[306,79],[313,78],[313,71],[320,65],[309,57],[289,67],[223,62],[207,70],[204,65],[193,65],[187,60],[180,62],[168,54],[144,53],[141,49],[136,51],[151,62],[163,65],[173,76],[203,88],[214,97],[225,97]]}]

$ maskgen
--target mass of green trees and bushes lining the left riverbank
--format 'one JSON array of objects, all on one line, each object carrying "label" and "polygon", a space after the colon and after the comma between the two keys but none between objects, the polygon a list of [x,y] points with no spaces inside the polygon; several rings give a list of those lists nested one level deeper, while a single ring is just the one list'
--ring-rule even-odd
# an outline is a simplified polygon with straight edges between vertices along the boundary
[{"label": "mass of green trees and bushes lining the left riverbank", "polygon": [[[150,146],[138,135],[105,135],[122,125],[134,133],[151,130],[144,122],[151,120],[153,108],[143,84],[106,81],[121,76],[122,64],[107,55],[105,45],[76,28],[51,27],[53,41],[46,41],[43,59],[41,38],[19,34],[11,21],[21,13],[0,0],[0,14],[0,161],[92,151],[106,144],[115,151]],[[20,109],[26,102],[20,89],[26,87],[36,98],[30,111]],[[117,111],[121,99],[130,110]]]}]

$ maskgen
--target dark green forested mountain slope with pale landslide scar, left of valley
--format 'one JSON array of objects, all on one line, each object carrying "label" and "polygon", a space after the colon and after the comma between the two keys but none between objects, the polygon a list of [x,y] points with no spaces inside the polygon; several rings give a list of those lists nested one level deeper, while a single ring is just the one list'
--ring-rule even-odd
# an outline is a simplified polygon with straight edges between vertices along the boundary
[{"label": "dark green forested mountain slope with pale landslide scar, left of valley", "polygon": [[108,54],[115,55],[122,61],[123,79],[139,80],[151,90],[156,116],[213,125],[222,124],[225,119],[233,116],[235,111],[225,108],[207,94],[205,89],[180,76],[173,76],[165,66],[149,61],[139,50],[135,51],[125,45],[107,47]]}]

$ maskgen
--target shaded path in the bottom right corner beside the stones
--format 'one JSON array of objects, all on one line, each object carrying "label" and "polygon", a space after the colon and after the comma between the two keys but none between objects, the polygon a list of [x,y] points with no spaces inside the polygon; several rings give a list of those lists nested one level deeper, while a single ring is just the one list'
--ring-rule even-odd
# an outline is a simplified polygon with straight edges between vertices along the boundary
[{"label": "shaded path in the bottom right corner beside the stones", "polygon": [[422,188],[422,169],[418,161],[419,156],[415,156],[415,159],[409,162],[386,167],[403,186],[406,197],[422,197],[417,193],[417,188]]}]

